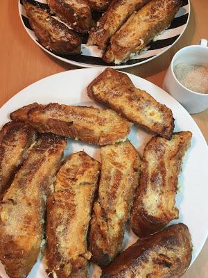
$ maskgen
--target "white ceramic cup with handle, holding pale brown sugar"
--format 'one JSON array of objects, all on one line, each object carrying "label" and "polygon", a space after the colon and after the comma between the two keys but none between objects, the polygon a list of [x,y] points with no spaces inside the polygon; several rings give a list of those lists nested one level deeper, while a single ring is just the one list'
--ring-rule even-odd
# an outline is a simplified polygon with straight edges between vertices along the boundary
[{"label": "white ceramic cup with handle, holding pale brown sugar", "polygon": [[195,114],[208,108],[208,94],[193,92],[184,87],[176,78],[173,67],[179,63],[189,63],[208,67],[207,40],[200,40],[199,45],[190,45],[177,51],[168,67],[162,88],[169,92],[190,113]]}]

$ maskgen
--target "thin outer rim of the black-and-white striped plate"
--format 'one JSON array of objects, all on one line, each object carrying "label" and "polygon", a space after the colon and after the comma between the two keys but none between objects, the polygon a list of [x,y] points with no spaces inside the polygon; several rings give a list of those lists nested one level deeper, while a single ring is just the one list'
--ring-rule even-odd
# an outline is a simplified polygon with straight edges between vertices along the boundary
[{"label": "thin outer rim of the black-and-white striped plate", "polygon": [[58,56],[56,54],[53,54],[53,52],[51,52],[48,49],[46,49],[45,47],[43,47],[42,44],[40,44],[40,42],[38,42],[37,40],[34,40],[33,36],[28,31],[28,28],[26,28],[26,26],[24,24],[24,21],[23,21],[23,19],[21,17],[21,10],[20,10],[21,3],[20,3],[20,0],[17,1],[17,5],[18,5],[18,11],[19,11],[19,17],[20,17],[20,20],[21,20],[21,24],[23,25],[26,33],[28,33],[29,37],[33,40],[33,42],[35,42],[35,44],[37,44],[38,47],[40,47],[42,50],[46,51],[47,54],[53,56],[53,58],[61,60],[62,62],[67,63],[67,64],[75,65],[77,67],[87,67],[87,68],[90,68],[90,67],[93,67],[93,68],[97,68],[97,67],[111,67],[111,68],[113,68],[115,70],[119,70],[119,69],[121,70],[121,69],[127,69],[128,67],[135,67],[137,65],[143,65],[144,63],[150,62],[151,60],[161,56],[166,51],[171,49],[171,47],[173,47],[173,45],[175,45],[178,42],[178,40],[180,40],[180,38],[184,34],[184,31],[186,31],[186,29],[187,29],[187,26],[189,24],[190,15],[191,15],[191,2],[190,2],[190,0],[187,0],[187,1],[188,1],[188,5],[189,5],[189,15],[188,15],[188,18],[187,18],[187,22],[186,22],[186,24],[184,24],[184,28],[183,28],[182,32],[180,33],[180,35],[178,36],[178,38],[172,44],[168,45],[168,47],[166,47],[166,49],[161,51],[159,54],[157,54],[157,55],[155,55],[153,57],[150,57],[150,58],[148,58],[146,60],[143,60],[141,62],[132,64],[132,65],[92,65],[92,64],[88,64],[88,63],[76,62],[74,60],[70,60],[70,59],[67,59],[67,58],[62,58],[62,57],[60,57],[60,56]]}]

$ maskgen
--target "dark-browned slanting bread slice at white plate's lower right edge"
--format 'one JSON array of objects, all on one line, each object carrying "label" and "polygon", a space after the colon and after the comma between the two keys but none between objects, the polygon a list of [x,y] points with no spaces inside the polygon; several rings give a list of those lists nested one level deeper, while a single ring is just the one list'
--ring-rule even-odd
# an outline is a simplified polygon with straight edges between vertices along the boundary
[{"label": "dark-browned slanting bread slice at white plate's lower right edge", "polygon": [[191,263],[191,235],[175,224],[147,238],[139,238],[103,270],[102,278],[179,278]]}]

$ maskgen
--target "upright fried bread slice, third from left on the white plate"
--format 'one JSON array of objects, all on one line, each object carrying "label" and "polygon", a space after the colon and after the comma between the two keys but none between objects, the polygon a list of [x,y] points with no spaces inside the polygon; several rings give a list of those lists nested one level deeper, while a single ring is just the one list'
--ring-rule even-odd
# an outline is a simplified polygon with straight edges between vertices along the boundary
[{"label": "upright fried bread slice, third from left on the white plate", "polygon": [[85,154],[71,154],[55,179],[47,202],[46,260],[49,277],[87,278],[87,230],[100,163]]}]

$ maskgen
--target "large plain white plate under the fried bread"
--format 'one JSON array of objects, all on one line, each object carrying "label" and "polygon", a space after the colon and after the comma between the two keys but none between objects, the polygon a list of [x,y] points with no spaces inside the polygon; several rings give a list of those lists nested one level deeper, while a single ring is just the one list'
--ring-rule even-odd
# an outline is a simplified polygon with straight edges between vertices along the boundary
[{"label": "large plain white plate under the fried bread", "polygon": [[[97,104],[87,96],[87,85],[103,71],[99,69],[82,69],[71,70],[49,76],[28,86],[15,97],[12,97],[0,109],[0,124],[5,124],[10,120],[9,114],[21,106],[31,104],[35,101],[40,104],[48,104],[49,102],[58,102],[60,104],[96,106]],[[202,246],[205,243],[208,234],[208,147],[205,138],[202,136],[200,129],[193,121],[192,117],[184,110],[184,108],[173,97],[164,92],[161,88],[153,83],[141,79],[132,74],[128,74],[133,83],[142,90],[149,92],[157,101],[166,104],[173,111],[175,117],[175,131],[191,131],[193,138],[191,147],[184,157],[182,173],[180,174],[181,190],[177,193],[177,207],[180,210],[180,219],[175,222],[184,222],[188,225],[193,241],[193,261],[198,256]],[[128,138],[132,144],[139,150],[142,155],[146,142],[150,139],[150,134],[135,126]],[[82,142],[69,139],[68,154],[85,150],[87,154],[100,160],[100,148],[94,145],[87,145]],[[68,148],[67,148],[68,149]],[[128,241],[129,240],[129,241]],[[125,246],[134,242],[136,237],[132,232],[125,234]],[[96,268],[94,276],[90,278],[98,278],[99,270]],[[0,266],[0,276],[6,278],[3,267]],[[43,267],[40,263],[36,263],[29,278],[46,277]]]}]

